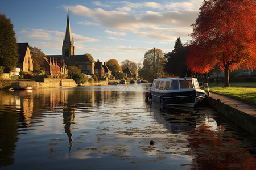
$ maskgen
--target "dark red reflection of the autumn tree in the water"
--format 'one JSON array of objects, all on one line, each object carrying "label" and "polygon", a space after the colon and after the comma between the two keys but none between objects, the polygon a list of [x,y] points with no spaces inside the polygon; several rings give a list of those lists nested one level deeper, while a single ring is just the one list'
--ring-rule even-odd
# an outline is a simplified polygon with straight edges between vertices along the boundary
[{"label": "dark red reflection of the autumn tree in the water", "polygon": [[193,157],[192,169],[254,169],[255,158],[227,133],[201,125],[189,133],[188,147]]}]

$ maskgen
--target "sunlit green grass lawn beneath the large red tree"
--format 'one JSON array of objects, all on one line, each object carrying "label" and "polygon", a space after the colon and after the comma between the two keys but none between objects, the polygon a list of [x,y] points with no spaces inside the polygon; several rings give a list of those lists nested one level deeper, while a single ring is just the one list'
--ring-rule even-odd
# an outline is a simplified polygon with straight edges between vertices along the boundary
[{"label": "sunlit green grass lawn beneath the large red tree", "polygon": [[210,92],[214,92],[216,94],[229,96],[229,97],[232,97],[233,99],[245,101],[248,104],[256,105],[256,88],[211,86],[209,90]]}]

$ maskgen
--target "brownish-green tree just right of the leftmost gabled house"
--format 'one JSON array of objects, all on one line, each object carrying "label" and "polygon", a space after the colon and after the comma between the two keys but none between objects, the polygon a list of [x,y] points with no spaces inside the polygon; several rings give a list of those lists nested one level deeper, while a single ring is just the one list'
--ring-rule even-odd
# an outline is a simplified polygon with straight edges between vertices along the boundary
[{"label": "brownish-green tree just right of the leftmost gabled house", "polygon": [[46,55],[41,51],[41,49],[36,47],[30,47],[32,58],[34,61],[34,71],[41,70],[41,66],[43,65],[43,57]]}]

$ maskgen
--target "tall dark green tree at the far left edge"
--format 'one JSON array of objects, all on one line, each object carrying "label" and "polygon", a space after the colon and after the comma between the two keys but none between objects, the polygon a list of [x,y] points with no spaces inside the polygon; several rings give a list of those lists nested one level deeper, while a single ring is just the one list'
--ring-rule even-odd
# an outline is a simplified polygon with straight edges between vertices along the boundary
[{"label": "tall dark green tree at the far left edge", "polygon": [[19,59],[18,46],[11,19],[0,14],[0,66],[5,72],[10,72],[17,65]]}]

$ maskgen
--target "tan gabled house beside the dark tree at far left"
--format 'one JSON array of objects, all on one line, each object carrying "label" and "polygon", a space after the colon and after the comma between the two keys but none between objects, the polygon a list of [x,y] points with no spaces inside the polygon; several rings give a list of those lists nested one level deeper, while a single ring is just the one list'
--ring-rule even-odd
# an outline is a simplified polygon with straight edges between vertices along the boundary
[{"label": "tan gabled house beside the dark tree at far left", "polygon": [[19,61],[17,67],[24,72],[33,71],[34,61],[28,43],[18,43]]}]

